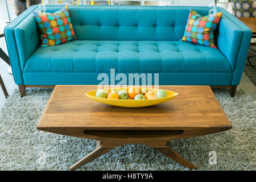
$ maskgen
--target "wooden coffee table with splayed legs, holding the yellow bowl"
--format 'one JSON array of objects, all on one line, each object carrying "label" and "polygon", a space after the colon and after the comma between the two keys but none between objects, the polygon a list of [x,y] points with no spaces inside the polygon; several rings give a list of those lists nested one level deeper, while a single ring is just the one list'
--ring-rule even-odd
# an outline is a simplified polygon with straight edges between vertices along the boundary
[{"label": "wooden coffee table with splayed legs, holding the yellow bowl", "polygon": [[160,86],[179,93],[164,104],[126,108],[98,103],[85,96],[97,86],[57,85],[36,127],[51,133],[96,139],[96,150],[70,169],[123,144],[144,144],[189,169],[196,167],[177,154],[168,141],[232,128],[209,86]]}]

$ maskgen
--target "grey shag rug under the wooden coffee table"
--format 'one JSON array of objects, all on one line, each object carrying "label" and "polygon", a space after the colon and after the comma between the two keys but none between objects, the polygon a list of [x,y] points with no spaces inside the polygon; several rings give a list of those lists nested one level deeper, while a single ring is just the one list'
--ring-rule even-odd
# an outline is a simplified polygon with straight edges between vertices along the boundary
[{"label": "grey shag rug under the wooden coffee table", "polygon": [[[96,146],[96,140],[36,130],[52,89],[18,90],[0,111],[1,170],[68,170]],[[174,140],[170,146],[200,170],[256,169],[256,104],[243,90],[234,98],[226,89],[214,90],[233,129],[203,137]],[[209,164],[210,151],[216,163]],[[79,170],[188,170],[150,147],[120,146]]]}]

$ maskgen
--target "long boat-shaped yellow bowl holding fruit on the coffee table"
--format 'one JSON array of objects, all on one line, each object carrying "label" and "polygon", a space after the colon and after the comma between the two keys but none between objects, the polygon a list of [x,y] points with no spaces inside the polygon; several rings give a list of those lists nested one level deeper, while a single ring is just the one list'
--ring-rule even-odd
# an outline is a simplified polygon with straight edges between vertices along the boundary
[{"label": "long boat-shaped yellow bowl holding fruit on the coffee table", "polygon": [[[119,92],[120,90],[126,90],[128,92],[128,89],[129,88],[119,88],[119,89],[116,88],[115,90],[117,90],[117,92]],[[141,88],[139,89],[141,90]],[[108,89],[108,93],[110,93],[112,90],[114,89]],[[156,93],[159,89],[148,88],[147,90],[150,90],[150,91],[154,90],[154,92]],[[120,107],[146,107],[146,106],[152,106],[156,104],[162,104],[164,102],[172,100],[178,95],[178,93],[176,92],[166,90],[167,96],[164,98],[157,98],[157,99],[151,99],[151,100],[115,100],[115,99],[109,99],[109,98],[96,97],[95,96],[96,92],[97,90],[86,92],[85,95],[94,101],[101,102],[103,104],[113,105],[113,106],[120,106]]]}]

